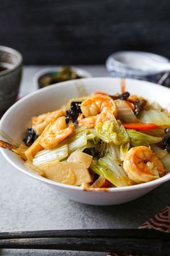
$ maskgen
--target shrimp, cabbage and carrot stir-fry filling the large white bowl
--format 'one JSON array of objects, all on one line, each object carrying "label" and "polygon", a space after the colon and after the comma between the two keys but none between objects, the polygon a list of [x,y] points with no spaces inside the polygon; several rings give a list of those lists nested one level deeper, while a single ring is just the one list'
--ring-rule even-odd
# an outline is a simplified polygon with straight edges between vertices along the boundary
[{"label": "shrimp, cabbage and carrot stir-fry filling the large white bowl", "polygon": [[13,147],[47,179],[85,188],[125,187],[170,171],[170,114],[158,103],[125,92],[73,98],[32,117]]}]

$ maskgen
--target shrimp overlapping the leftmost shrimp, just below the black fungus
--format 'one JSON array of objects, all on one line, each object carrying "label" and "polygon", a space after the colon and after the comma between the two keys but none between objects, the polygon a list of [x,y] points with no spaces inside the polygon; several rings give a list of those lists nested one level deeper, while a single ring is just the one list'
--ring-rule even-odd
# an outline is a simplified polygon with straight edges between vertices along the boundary
[{"label": "shrimp overlapping the leftmost shrimp, just below the black fungus", "polygon": [[74,130],[74,124],[66,124],[65,116],[58,117],[53,123],[48,124],[48,127],[40,135],[40,145],[45,149],[54,148],[58,143],[71,135]]}]

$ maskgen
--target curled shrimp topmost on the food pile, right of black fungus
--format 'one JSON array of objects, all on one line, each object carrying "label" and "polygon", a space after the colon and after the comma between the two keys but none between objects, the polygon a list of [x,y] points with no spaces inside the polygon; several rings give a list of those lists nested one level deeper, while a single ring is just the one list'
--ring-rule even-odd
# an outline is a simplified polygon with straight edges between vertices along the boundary
[{"label": "curled shrimp topmost on the food pile, right of black fungus", "polygon": [[93,128],[100,122],[112,120],[117,114],[117,105],[108,95],[92,95],[81,103],[81,112],[77,119],[79,127]]}]

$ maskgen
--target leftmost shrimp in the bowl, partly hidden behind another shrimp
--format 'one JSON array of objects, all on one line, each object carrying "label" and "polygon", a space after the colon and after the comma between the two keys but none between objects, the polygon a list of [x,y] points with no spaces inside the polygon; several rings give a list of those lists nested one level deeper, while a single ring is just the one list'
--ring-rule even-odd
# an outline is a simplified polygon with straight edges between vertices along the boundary
[{"label": "leftmost shrimp in the bowl, partly hidden behind another shrimp", "polygon": [[61,109],[53,112],[41,114],[40,116],[34,116],[32,118],[32,129],[36,135],[41,135],[45,127],[50,124],[51,121],[55,121],[60,116],[64,116],[65,112]]}]

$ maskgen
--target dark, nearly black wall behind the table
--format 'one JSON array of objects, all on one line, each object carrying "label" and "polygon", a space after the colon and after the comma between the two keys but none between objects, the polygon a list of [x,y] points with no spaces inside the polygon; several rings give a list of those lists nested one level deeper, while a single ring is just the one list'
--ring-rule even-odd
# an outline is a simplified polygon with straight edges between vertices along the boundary
[{"label": "dark, nearly black wall behind the table", "polygon": [[104,64],[130,49],[170,58],[170,1],[0,0],[0,40],[24,64]]}]

